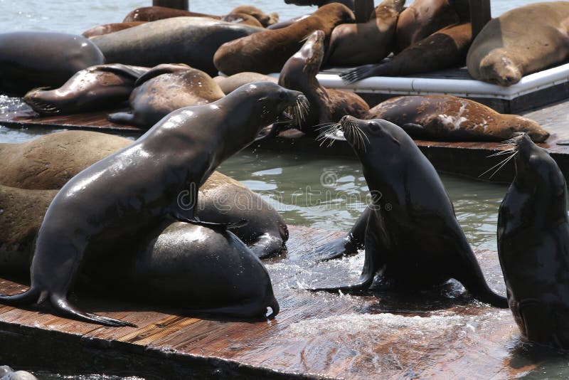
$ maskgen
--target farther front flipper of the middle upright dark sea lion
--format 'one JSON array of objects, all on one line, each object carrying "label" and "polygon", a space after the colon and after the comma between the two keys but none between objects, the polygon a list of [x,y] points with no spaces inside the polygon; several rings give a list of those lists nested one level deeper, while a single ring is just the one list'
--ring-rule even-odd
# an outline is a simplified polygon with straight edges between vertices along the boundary
[{"label": "farther front flipper of the middle upright dark sea lion", "polygon": [[353,224],[350,232],[341,238],[337,238],[316,249],[319,261],[334,260],[344,255],[355,255],[358,249],[364,248],[366,239],[366,227],[371,209],[366,207]]}]

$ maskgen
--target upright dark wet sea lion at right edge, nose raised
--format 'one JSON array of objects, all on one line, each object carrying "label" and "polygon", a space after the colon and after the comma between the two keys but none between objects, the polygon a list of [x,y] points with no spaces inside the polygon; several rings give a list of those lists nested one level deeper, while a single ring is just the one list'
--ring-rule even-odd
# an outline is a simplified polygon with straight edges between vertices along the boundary
[{"label": "upright dark wet sea lion at right edge, nose raised", "polygon": [[498,213],[498,255],[521,334],[569,349],[567,186],[546,149],[516,137],[516,176]]}]

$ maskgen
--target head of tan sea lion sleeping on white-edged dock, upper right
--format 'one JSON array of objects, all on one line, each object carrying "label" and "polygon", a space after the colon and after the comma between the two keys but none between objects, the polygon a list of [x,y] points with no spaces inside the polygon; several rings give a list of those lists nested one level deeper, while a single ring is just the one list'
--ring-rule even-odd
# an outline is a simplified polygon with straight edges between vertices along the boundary
[{"label": "head of tan sea lion sleeping on white-edged dock, upper right", "polygon": [[510,86],[521,80],[521,70],[503,49],[496,49],[480,62],[480,74],[489,83]]}]

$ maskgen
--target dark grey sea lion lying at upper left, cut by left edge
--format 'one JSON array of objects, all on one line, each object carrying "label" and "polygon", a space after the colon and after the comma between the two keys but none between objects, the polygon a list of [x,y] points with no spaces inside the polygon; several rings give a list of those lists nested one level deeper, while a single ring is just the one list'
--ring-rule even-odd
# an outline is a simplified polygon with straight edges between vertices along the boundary
[{"label": "dark grey sea lion lying at upper left, cut by left edge", "polygon": [[32,88],[63,85],[105,57],[82,36],[48,32],[0,33],[0,93],[23,96]]}]

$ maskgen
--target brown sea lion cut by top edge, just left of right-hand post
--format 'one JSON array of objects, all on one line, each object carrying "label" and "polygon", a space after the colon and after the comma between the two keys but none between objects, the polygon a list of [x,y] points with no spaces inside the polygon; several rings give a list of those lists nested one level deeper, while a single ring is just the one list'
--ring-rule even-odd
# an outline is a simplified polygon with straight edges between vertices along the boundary
[{"label": "brown sea lion cut by top edge, just left of right-hand post", "polygon": [[415,0],[399,15],[395,30],[395,53],[445,26],[468,21],[468,0]]}]

